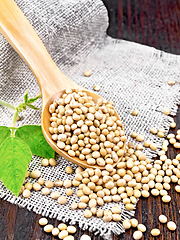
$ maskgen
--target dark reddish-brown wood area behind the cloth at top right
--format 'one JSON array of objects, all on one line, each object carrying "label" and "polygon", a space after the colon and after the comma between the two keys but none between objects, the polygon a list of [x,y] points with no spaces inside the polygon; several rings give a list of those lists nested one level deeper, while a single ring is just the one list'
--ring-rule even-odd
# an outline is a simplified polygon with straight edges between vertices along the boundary
[{"label": "dark reddish-brown wood area behind the cloth at top right", "polygon": [[108,34],[180,54],[179,0],[103,0],[108,9]]}]

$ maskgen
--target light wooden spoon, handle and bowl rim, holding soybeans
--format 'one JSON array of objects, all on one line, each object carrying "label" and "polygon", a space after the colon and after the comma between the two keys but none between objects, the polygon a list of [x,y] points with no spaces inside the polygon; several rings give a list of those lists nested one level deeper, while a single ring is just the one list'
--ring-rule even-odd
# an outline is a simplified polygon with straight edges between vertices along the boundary
[{"label": "light wooden spoon, handle and bowl rim, holding soybeans", "polygon": [[[51,139],[51,134],[49,133],[49,105],[54,99],[61,96],[64,89],[84,88],[72,82],[60,71],[53,62],[35,30],[13,0],[0,0],[0,31],[16,52],[28,64],[36,77],[42,92],[41,126],[49,145],[58,154],[77,165],[104,169],[98,165],[90,166],[87,164],[87,161],[81,161],[77,157],[69,156],[67,152],[60,150],[56,143]],[[98,98],[102,98],[93,92],[88,90],[85,91],[93,98],[94,102],[96,102]],[[116,111],[115,115],[120,119]],[[118,162],[121,158],[122,157],[118,159]]]}]

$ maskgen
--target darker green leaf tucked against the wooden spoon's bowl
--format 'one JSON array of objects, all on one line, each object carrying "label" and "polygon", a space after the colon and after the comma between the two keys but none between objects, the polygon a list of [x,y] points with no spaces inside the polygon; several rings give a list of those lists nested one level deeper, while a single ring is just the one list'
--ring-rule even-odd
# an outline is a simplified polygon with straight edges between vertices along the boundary
[{"label": "darker green leaf tucked against the wooden spoon's bowl", "polygon": [[16,130],[15,136],[26,142],[34,155],[54,158],[55,151],[47,143],[41,126],[24,125]]}]

